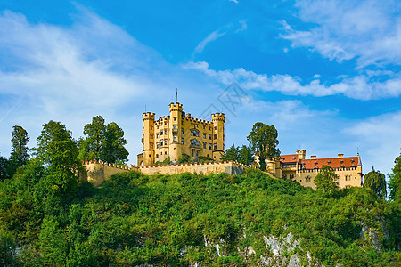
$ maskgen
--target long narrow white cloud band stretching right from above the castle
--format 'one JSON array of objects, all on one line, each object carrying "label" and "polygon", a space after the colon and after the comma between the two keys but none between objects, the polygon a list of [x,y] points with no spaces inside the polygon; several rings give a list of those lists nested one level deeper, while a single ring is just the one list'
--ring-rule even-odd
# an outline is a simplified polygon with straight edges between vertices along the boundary
[{"label": "long narrow white cloud band stretching right from above the castle", "polygon": [[356,77],[342,77],[340,82],[333,85],[324,85],[318,77],[304,85],[299,77],[290,75],[257,74],[246,69],[214,70],[204,61],[189,62],[184,69],[196,69],[219,82],[229,85],[238,83],[244,89],[260,90],[264,92],[276,91],[287,95],[313,95],[317,97],[343,94],[349,98],[371,100],[382,97],[398,97],[401,94],[401,75],[384,82],[371,81],[364,75]]}]

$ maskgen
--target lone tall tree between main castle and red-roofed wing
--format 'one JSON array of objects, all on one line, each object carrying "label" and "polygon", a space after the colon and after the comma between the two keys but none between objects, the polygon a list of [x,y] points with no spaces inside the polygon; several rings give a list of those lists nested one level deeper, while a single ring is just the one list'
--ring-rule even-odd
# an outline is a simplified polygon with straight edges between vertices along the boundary
[{"label": "lone tall tree between main castle and red-roofed wing", "polygon": [[250,142],[250,148],[259,158],[259,166],[262,171],[266,169],[266,158],[273,160],[280,156],[280,150],[277,149],[278,133],[274,125],[265,125],[258,122],[252,127],[247,139]]}]

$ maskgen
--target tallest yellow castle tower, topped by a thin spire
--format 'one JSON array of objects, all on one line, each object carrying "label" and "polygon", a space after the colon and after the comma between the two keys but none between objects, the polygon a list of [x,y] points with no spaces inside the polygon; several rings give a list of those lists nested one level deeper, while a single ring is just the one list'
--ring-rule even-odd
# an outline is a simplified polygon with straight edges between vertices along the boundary
[{"label": "tallest yellow castle tower, topped by a thin spire", "polygon": [[178,161],[183,153],[181,144],[183,105],[178,102],[170,103],[168,108],[170,111],[170,122],[168,129],[168,135],[170,137],[170,143],[168,145],[169,156],[171,161]]}]

